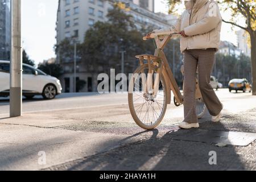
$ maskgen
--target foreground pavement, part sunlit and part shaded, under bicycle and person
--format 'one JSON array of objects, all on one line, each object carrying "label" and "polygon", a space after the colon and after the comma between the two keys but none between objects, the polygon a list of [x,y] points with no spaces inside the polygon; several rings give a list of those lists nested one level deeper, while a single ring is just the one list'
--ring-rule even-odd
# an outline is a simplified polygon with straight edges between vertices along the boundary
[{"label": "foreground pavement, part sunlit and part shaded, under bicycle and person", "polygon": [[[133,122],[86,121],[73,114],[40,112],[0,119],[0,169],[256,170],[256,142],[232,144],[254,139],[256,108],[226,115],[220,123],[200,123],[193,130],[164,123],[144,131]],[[217,147],[216,137],[229,145]],[[46,165],[38,163],[40,151],[46,152]],[[209,165],[210,151],[216,151],[217,165]]]}]

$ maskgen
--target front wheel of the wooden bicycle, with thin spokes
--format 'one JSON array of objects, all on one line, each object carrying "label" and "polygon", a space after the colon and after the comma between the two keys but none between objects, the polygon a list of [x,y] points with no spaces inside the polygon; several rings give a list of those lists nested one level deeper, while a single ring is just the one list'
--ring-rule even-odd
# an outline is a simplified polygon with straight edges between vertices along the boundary
[{"label": "front wheel of the wooden bicycle, with thin spokes", "polygon": [[[129,85],[128,101],[131,116],[137,125],[145,130],[155,129],[163,120],[167,108],[166,81],[162,74],[156,77],[156,69],[154,65],[151,65],[151,70],[148,64],[141,65],[134,72]],[[159,81],[155,81],[157,78]],[[145,88],[148,87],[148,79],[154,85],[152,90],[158,90],[157,92],[150,92],[150,89]],[[143,84],[145,81],[146,84]]]}]

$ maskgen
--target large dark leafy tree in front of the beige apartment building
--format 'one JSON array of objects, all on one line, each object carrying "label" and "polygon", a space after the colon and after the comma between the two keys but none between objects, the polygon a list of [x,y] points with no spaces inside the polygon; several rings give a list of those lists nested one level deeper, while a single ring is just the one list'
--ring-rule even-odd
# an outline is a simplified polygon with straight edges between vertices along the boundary
[{"label": "large dark leafy tree in front of the beige apartment building", "polygon": [[144,42],[143,34],[134,26],[133,19],[118,6],[108,13],[108,22],[96,22],[86,34],[82,44],[82,61],[92,73],[109,73],[110,68],[121,71],[121,53],[125,50],[125,73],[131,73],[138,65],[134,56],[152,53],[154,44]]}]

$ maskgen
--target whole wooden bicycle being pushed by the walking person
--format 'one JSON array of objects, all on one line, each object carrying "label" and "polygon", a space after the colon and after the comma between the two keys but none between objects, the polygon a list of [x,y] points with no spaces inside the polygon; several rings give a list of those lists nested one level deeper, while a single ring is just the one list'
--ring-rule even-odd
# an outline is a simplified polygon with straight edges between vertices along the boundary
[{"label": "whole wooden bicycle being pushed by the walking person", "polygon": [[[167,105],[171,104],[171,91],[175,106],[183,104],[183,95],[168,64],[164,47],[179,34],[156,34],[145,36],[143,40],[154,39],[154,55],[138,55],[139,67],[135,70],[129,83],[129,109],[138,126],[146,130],[155,129],[163,120]],[[183,67],[181,68],[183,73]],[[196,78],[196,112],[197,117],[204,116],[207,107],[204,104]]]}]

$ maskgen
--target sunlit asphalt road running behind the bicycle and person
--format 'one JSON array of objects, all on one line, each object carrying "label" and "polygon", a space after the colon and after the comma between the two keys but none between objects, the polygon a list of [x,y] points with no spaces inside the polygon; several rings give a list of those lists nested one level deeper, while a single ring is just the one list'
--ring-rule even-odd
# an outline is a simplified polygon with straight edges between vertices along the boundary
[{"label": "sunlit asphalt road running behind the bicycle and person", "polygon": [[[224,104],[224,115],[245,111],[254,106],[251,93],[229,93],[228,89],[220,89],[217,96]],[[239,100],[239,102],[237,102]],[[127,110],[127,94],[98,94],[98,93],[63,93],[54,100],[46,101],[36,96],[32,100],[23,100],[23,112],[62,111],[76,109],[86,111],[86,117],[95,121],[133,121]],[[95,108],[100,110],[97,112]],[[0,115],[9,114],[9,99],[0,97]],[[118,117],[117,117],[118,116]],[[183,106],[168,105],[163,122],[180,122],[183,118]]]}]

